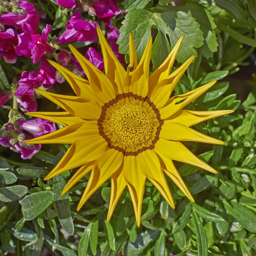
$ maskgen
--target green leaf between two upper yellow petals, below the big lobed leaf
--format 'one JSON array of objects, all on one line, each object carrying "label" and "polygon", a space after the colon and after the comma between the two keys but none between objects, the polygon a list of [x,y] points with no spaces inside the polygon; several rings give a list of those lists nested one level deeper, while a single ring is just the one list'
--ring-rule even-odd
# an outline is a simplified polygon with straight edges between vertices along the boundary
[{"label": "green leaf between two upper yellow petals, below the big lobed leaf", "polygon": [[169,41],[164,33],[160,30],[152,47],[151,60],[153,63],[153,70],[156,70],[157,67],[163,63],[169,52],[171,52]]}]

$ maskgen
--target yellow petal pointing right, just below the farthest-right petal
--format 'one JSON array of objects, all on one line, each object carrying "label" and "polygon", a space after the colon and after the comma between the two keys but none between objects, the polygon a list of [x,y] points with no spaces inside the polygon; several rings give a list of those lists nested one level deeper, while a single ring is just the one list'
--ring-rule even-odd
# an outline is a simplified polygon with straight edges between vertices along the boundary
[{"label": "yellow petal pointing right, just below the farthest-right petal", "polygon": [[175,122],[164,122],[161,131],[160,138],[165,140],[180,140],[180,141],[197,141],[209,144],[224,145],[225,143],[221,140],[209,137],[198,131],[195,131],[186,125]]}]

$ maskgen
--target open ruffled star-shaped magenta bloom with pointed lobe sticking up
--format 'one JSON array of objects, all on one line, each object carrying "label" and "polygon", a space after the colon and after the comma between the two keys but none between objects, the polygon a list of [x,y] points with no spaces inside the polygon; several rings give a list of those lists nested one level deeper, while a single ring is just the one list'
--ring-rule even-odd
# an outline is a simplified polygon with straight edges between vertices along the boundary
[{"label": "open ruffled star-shaped magenta bloom with pointed lobe sticking up", "polygon": [[54,48],[47,43],[50,31],[51,26],[47,24],[46,28],[42,30],[42,35],[30,35],[28,32],[18,35],[19,44],[15,47],[15,52],[19,56],[32,58],[33,63],[36,64],[44,55],[44,52],[54,52]]}]

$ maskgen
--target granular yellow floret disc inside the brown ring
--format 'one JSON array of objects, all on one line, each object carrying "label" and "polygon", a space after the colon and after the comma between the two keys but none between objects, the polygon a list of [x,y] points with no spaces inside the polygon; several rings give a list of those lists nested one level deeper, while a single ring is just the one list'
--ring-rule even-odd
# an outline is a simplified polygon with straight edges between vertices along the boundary
[{"label": "granular yellow floret disc inside the brown ring", "polygon": [[151,140],[159,121],[147,102],[120,99],[106,110],[103,127],[111,143],[135,150]]}]

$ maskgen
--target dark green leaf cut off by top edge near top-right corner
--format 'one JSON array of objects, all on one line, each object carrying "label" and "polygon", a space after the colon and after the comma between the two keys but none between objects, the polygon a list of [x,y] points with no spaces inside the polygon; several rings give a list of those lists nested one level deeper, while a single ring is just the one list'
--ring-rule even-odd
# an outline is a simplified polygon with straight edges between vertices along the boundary
[{"label": "dark green leaf cut off by top edge near top-right corner", "polygon": [[246,18],[239,0],[215,0],[215,4],[225,9],[236,19],[243,20]]}]

